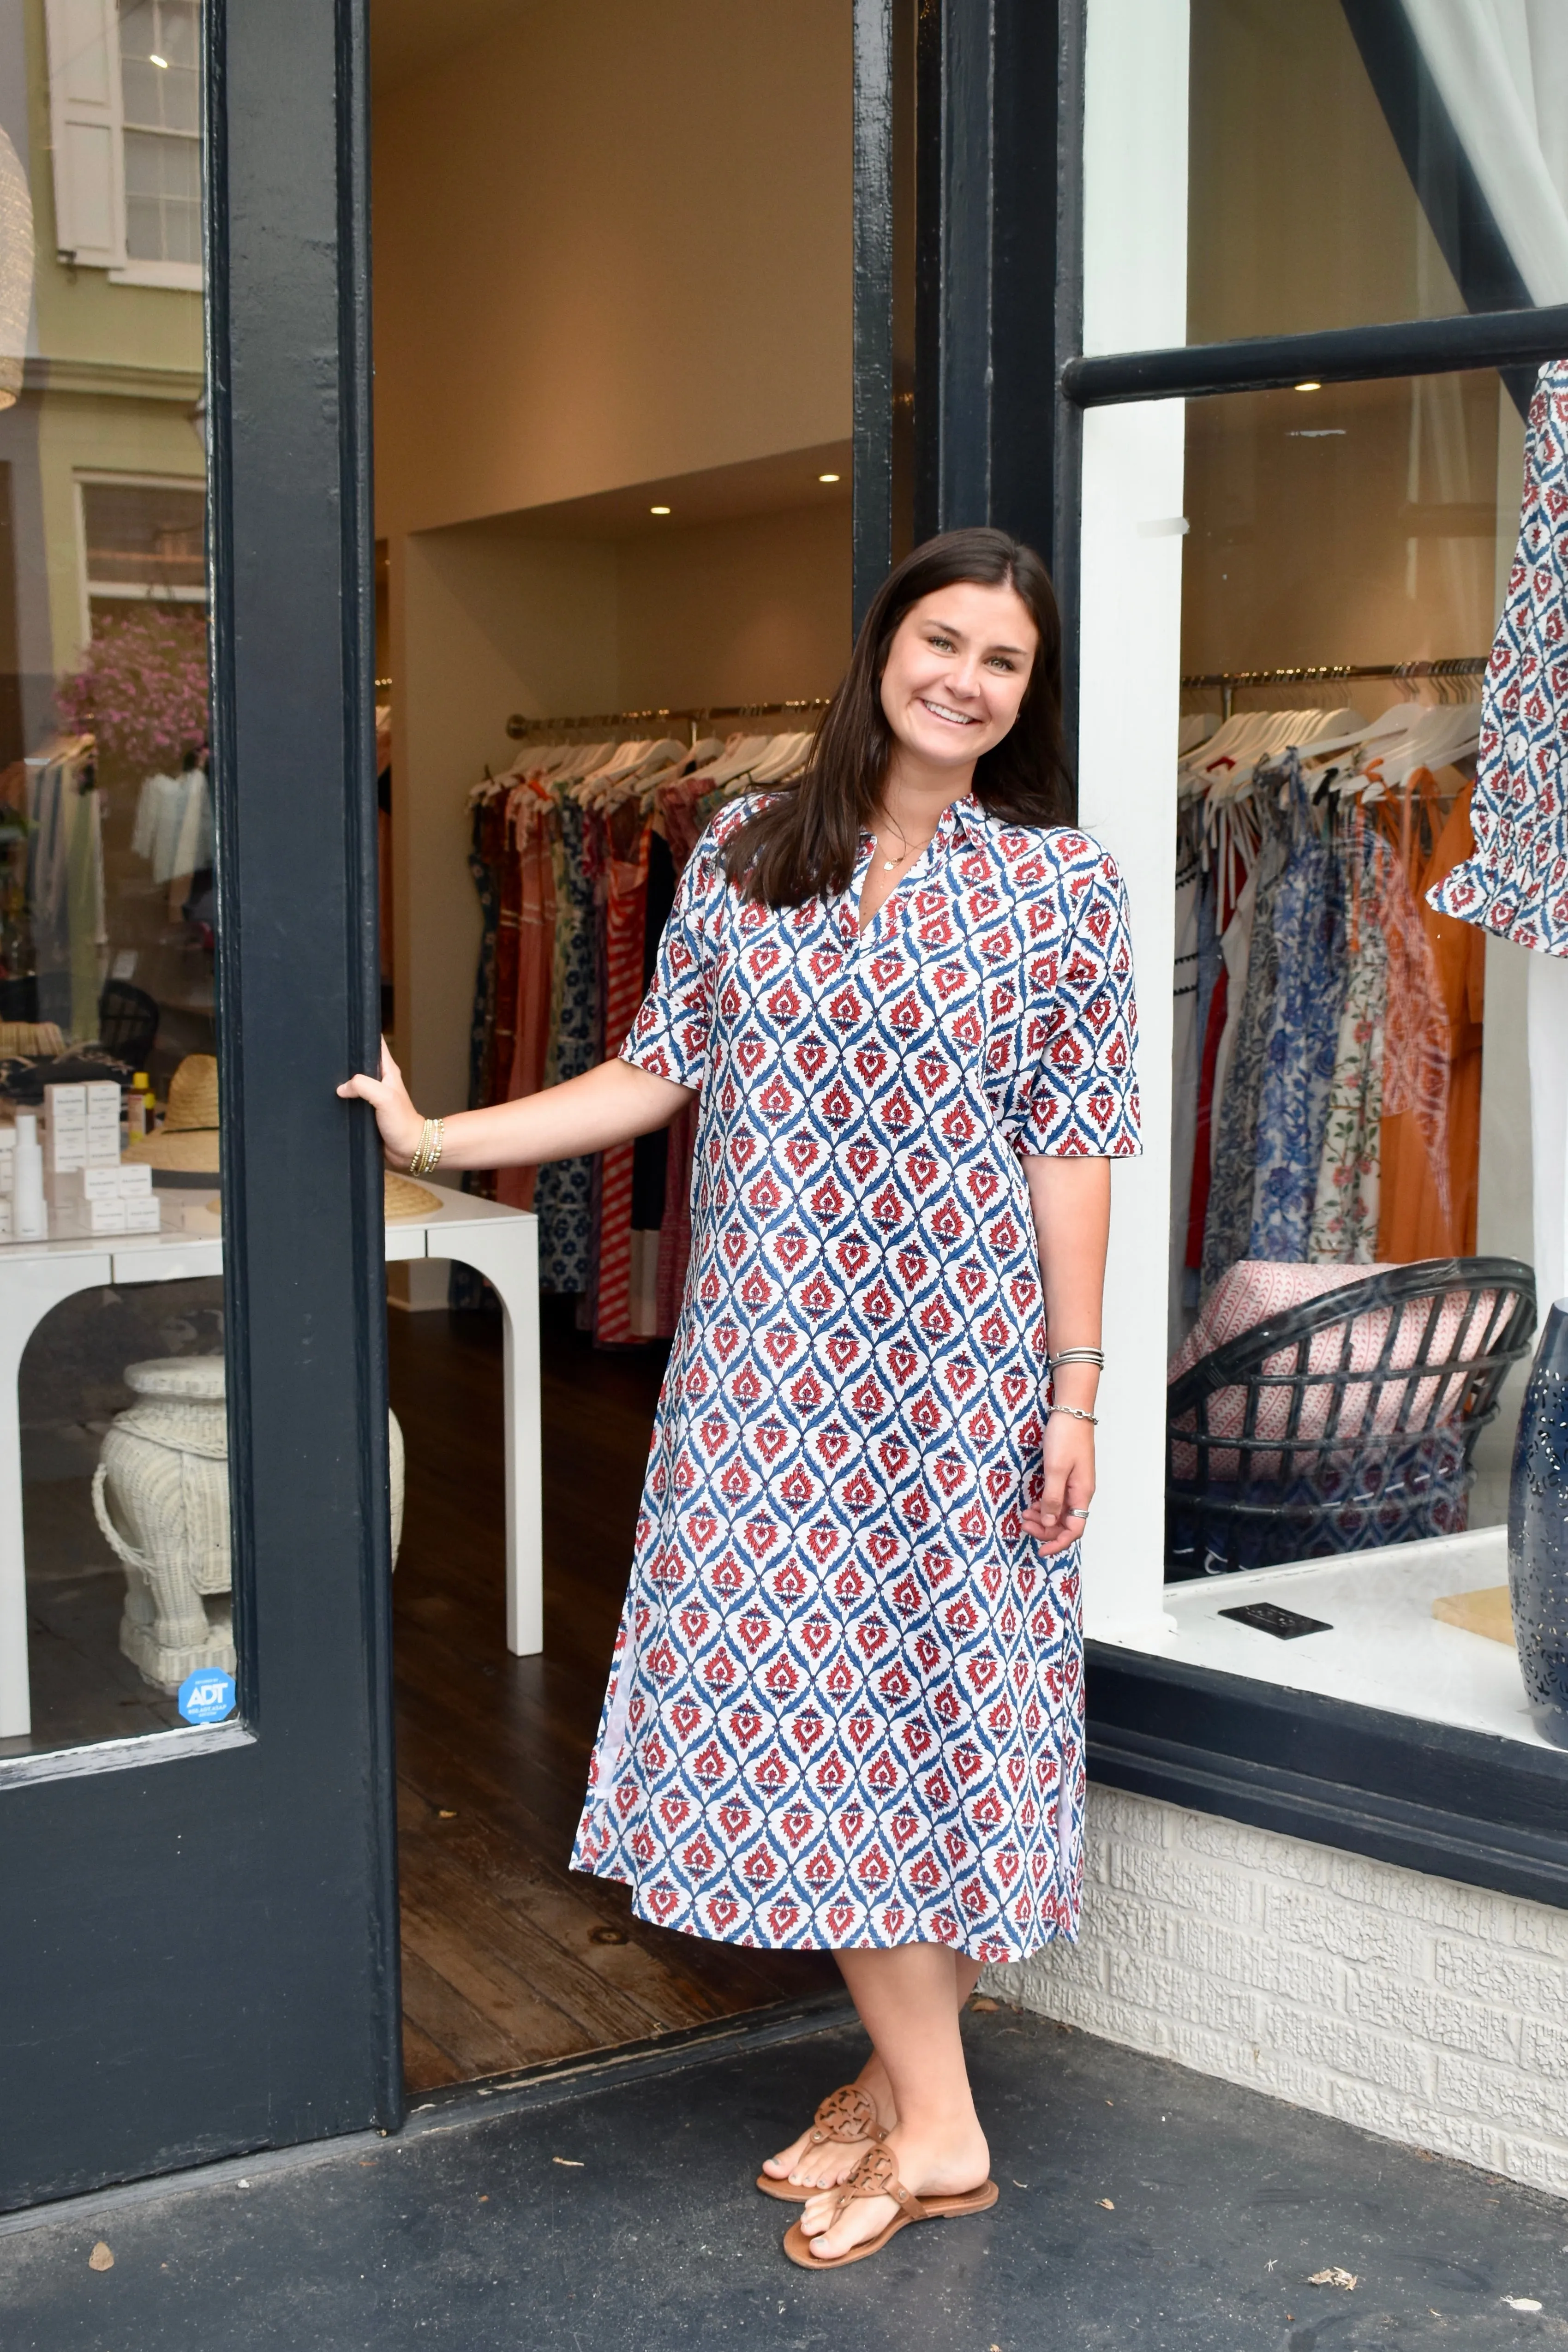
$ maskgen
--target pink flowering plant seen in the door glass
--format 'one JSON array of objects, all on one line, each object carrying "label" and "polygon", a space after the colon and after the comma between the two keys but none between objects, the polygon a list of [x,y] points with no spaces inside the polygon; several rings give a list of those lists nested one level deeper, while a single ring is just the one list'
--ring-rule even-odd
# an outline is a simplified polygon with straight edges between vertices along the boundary
[{"label": "pink flowering plant seen in the door glass", "polygon": [[207,748],[207,614],[200,604],[132,604],[94,616],[80,670],[54,689],[61,727],[92,734],[99,755],[136,776],[179,769]]}]

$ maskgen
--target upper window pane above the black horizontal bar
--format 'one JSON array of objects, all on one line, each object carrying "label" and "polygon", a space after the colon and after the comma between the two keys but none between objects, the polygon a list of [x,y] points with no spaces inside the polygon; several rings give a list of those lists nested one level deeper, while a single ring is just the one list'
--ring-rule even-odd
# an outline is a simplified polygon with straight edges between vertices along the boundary
[{"label": "upper window pane above the black horizontal bar", "polygon": [[1187,339],[1568,299],[1561,9],[1192,0]]}]

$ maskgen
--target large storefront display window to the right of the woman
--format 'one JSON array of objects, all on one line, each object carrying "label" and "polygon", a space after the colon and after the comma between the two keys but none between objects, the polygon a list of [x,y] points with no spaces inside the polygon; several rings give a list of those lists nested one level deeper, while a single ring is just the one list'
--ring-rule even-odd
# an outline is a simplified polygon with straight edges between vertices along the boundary
[{"label": "large storefront display window to the right of the woman", "polygon": [[[1175,26],[1143,64],[1095,0],[1086,348],[1180,341],[1182,247],[1187,341],[1563,301],[1568,165],[1537,99],[1568,52],[1554,19],[1509,45],[1481,16],[1194,0],[1182,155]],[[1544,957],[1429,898],[1474,851],[1535,367],[1385,379],[1366,348],[1375,381],[1302,365],[1084,423],[1084,818],[1173,955],[1166,1033],[1143,953],[1171,1164],[1159,1204],[1119,1195],[1091,1632],[1540,1740],[1505,1522],[1563,1181],[1533,1145]]]}]

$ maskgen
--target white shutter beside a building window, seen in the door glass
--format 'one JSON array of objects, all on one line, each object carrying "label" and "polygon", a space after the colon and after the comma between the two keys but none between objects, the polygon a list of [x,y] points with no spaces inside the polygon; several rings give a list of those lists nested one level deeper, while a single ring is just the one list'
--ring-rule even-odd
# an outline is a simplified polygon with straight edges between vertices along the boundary
[{"label": "white shutter beside a building window, seen in the door glass", "polygon": [[125,268],[120,12],[115,0],[45,0],[54,223],[61,254]]}]

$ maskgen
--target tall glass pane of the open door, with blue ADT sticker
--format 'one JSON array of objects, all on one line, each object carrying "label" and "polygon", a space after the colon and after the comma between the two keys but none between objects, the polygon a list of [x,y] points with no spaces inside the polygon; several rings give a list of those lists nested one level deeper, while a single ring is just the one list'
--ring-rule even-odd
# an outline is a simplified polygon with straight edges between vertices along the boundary
[{"label": "tall glass pane of the open door, with blue ADT sticker", "polygon": [[202,296],[122,275],[200,263],[195,54],[49,9],[0,106],[0,1755],[235,1703]]}]

